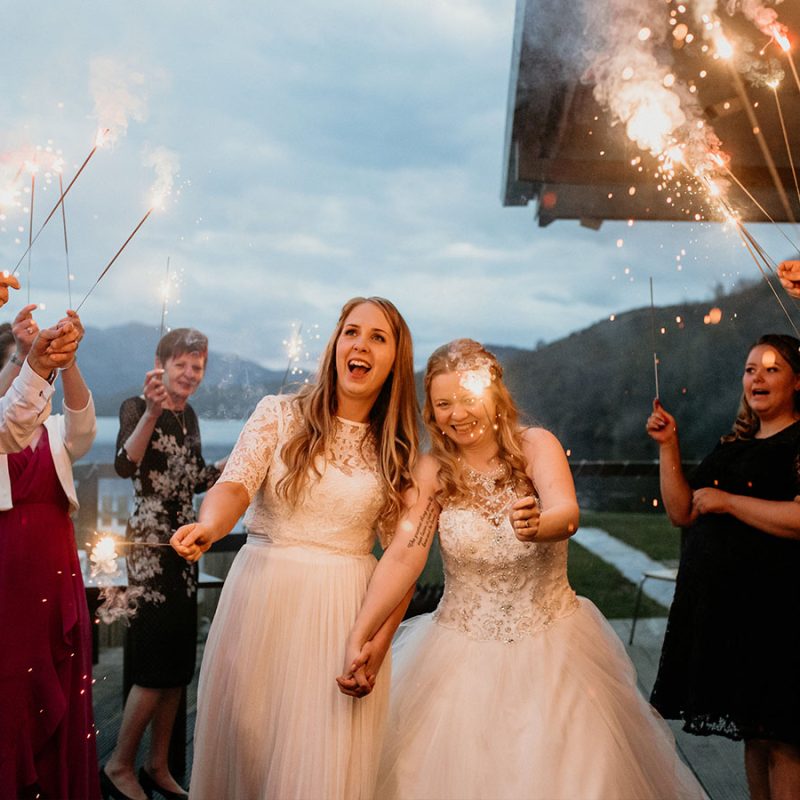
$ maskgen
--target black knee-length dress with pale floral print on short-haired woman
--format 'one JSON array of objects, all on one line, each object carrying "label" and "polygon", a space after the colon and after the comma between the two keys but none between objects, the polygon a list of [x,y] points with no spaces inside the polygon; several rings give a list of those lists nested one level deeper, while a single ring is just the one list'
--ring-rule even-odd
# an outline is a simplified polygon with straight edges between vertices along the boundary
[{"label": "black knee-length dress with pale floral print on short-haired woman", "polygon": [[[125,400],[119,411],[114,467],[133,479],[136,494],[126,535],[132,542],[168,545],[176,528],[194,522],[193,495],[209,489],[220,473],[203,460],[189,405],[183,412],[163,411],[141,463],[131,462],[123,445],[144,411],[142,397]],[[152,689],[186,686],[197,647],[197,564],[169,546],[127,550],[128,586],[138,594],[128,629],[131,680]]]}]

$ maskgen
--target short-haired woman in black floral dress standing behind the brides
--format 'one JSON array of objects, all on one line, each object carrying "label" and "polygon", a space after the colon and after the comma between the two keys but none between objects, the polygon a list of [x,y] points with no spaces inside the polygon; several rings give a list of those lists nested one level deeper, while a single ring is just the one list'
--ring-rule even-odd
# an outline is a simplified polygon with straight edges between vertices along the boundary
[{"label": "short-haired woman in black floral dress standing behind the brides", "polygon": [[[191,328],[176,328],[156,349],[156,368],[145,376],[144,394],[120,408],[115,468],[132,478],[134,510],[129,541],[167,545],[173,531],[193,522],[193,495],[219,477],[206,466],[197,416],[187,400],[205,373],[208,340]],[[155,790],[165,797],[186,794],[170,774],[167,754],[183,687],[194,675],[197,642],[197,565],[169,546],[133,547],[129,586],[139,592],[128,647],[132,687],[114,752],[100,773],[106,797],[140,800]],[[136,753],[148,725],[150,751],[135,773]]]}]

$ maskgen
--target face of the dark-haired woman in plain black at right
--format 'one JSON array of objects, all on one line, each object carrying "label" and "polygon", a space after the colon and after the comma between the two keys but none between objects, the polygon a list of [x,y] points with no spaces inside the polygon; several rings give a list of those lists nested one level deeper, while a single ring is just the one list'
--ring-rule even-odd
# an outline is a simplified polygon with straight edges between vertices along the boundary
[{"label": "face of the dark-haired woman in plain black at right", "polygon": [[762,421],[795,416],[794,396],[800,390],[800,376],[775,348],[762,344],[750,351],[742,387],[747,404]]}]

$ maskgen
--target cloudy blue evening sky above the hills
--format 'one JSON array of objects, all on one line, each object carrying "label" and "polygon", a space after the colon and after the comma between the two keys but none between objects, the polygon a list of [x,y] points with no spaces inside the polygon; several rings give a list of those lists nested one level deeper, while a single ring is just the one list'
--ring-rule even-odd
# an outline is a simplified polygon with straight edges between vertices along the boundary
[{"label": "cloudy blue evening sky above the hills", "polygon": [[[650,276],[659,305],[758,277],[718,224],[539,228],[533,206],[502,206],[513,0],[6,5],[4,268],[28,242],[21,154],[63,155],[66,185],[118,113],[66,198],[69,292],[59,213],[4,320],[29,287],[40,324],[70,293],[80,302],[150,207],[164,176],[153,154],[169,154],[158,163],[172,165],[172,191],[86,299],[84,323],[158,328],[166,310],[212,350],[273,368],[300,324],[316,356],[355,295],[395,302],[424,362],[455,337],[535,347],[645,306]],[[45,171],[34,233],[58,199]],[[772,226],[751,230],[784,256]]]}]

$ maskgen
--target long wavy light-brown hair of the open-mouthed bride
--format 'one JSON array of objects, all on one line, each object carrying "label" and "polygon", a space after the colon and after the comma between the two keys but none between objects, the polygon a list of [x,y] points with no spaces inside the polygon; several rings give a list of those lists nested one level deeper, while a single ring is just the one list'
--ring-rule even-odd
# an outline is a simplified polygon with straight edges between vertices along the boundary
[{"label": "long wavy light-brown hair of the open-mouthed bride", "polygon": [[417,458],[419,439],[411,332],[394,304],[383,297],[354,297],[342,307],[336,328],[320,358],[316,382],[302,387],[292,400],[301,428],[281,451],[288,469],[278,481],[276,491],[291,503],[297,503],[309,476],[320,476],[316,460],[324,455],[335,426],[336,343],[350,312],[362,303],[371,303],[384,313],[395,341],[394,365],[369,414],[369,430],[376,444],[378,470],[386,498],[379,527],[383,534],[389,534],[400,515],[403,493],[413,482],[411,470]]}]

